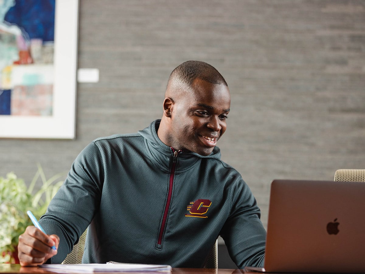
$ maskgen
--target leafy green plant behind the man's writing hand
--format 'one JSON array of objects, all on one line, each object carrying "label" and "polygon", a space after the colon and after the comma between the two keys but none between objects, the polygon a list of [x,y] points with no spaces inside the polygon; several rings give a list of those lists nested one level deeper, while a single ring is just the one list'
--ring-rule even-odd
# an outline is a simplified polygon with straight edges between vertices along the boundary
[{"label": "leafy green plant behind the man's writing hand", "polygon": [[[0,177],[0,263],[11,262],[11,252],[18,246],[18,237],[28,225],[32,225],[27,210],[31,210],[38,219],[46,212],[47,206],[63,183],[58,180],[65,173],[59,173],[46,179],[41,165],[27,188],[23,179],[14,172],[6,178]],[[34,191],[36,183],[42,186]]]}]

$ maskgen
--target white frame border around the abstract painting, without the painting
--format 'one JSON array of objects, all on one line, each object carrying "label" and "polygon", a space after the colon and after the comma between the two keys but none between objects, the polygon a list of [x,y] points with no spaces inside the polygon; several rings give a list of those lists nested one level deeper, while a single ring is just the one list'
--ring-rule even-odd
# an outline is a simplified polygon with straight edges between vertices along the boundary
[{"label": "white frame border around the abstract painting, without the painting", "polygon": [[75,138],[78,7],[55,0],[52,115],[0,115],[0,138]]}]

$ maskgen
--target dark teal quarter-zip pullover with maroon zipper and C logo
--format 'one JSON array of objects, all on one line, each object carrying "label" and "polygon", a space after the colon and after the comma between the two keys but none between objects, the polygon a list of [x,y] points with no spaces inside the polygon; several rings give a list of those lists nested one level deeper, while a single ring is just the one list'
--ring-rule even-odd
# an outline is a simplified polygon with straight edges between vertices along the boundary
[{"label": "dark teal quarter-zip pullover with maroon zipper and C logo", "polygon": [[78,155],[40,224],[60,237],[61,263],[88,228],[83,263],[203,267],[221,235],[239,268],[264,264],[266,231],[241,175],[211,155],[174,151],[160,120],[98,138]]}]

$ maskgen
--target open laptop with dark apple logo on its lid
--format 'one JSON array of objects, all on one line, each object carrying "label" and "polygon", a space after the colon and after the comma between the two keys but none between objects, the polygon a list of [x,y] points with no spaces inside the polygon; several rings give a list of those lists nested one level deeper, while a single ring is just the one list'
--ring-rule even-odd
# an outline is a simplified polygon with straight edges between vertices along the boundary
[{"label": "open laptop with dark apple logo on its lid", "polygon": [[365,273],[365,183],[273,180],[263,268]]}]

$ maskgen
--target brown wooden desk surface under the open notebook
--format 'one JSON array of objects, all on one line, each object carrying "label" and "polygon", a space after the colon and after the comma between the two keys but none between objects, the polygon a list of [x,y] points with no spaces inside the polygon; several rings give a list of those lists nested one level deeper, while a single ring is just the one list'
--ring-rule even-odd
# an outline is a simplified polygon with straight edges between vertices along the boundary
[{"label": "brown wooden desk surface under the open notebook", "polygon": [[[204,269],[204,268],[173,268],[172,273],[174,274],[241,274],[244,272],[239,269]],[[47,271],[39,267],[22,267],[18,264],[0,264],[0,274],[55,274],[55,272]],[[126,272],[123,272],[126,273]],[[151,272],[145,272],[151,273]],[[152,272],[154,273],[154,272]],[[249,272],[245,272],[249,274]],[[70,272],[65,272],[70,274]],[[105,273],[111,274],[111,273]],[[136,274],[135,272],[133,274]]]}]

